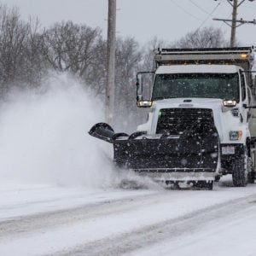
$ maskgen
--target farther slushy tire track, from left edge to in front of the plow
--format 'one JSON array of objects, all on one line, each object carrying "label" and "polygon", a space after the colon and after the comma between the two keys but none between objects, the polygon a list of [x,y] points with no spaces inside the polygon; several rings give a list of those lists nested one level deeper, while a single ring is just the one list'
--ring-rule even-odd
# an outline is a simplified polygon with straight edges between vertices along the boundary
[{"label": "farther slushy tire track, from left edge to in front of the plow", "polygon": [[89,203],[82,207],[53,212],[41,212],[4,220],[0,222],[0,238],[21,236],[22,233],[28,233],[30,231],[55,228],[82,220],[86,221],[86,219],[89,220],[90,218],[100,218],[105,215],[110,216],[119,212],[131,211],[139,206],[152,204],[159,197],[162,200],[165,199],[165,195],[161,195],[161,192],[156,192],[156,194],[133,195],[121,199]]}]

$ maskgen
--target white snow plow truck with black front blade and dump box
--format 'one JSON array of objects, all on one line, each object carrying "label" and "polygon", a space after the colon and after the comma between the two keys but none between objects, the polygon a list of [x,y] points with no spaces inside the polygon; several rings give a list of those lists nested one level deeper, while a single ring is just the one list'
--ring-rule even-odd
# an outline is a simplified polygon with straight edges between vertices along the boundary
[{"label": "white snow plow truck with black front blade and dump box", "polygon": [[[106,123],[89,134],[113,143],[116,166],[164,183],[212,189],[231,174],[254,183],[256,53],[253,47],[156,49],[154,71],[137,73],[137,107],[148,121],[131,135]],[[148,97],[143,78],[153,73]]]}]

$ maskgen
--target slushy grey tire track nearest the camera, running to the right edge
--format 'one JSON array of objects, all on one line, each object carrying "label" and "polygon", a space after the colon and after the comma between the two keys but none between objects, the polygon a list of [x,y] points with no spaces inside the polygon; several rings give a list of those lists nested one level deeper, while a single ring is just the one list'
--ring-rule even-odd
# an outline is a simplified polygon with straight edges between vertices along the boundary
[{"label": "slushy grey tire track nearest the camera, running to the right edge", "polygon": [[[241,212],[244,212],[246,216],[247,212],[251,212],[252,209],[254,212],[256,211],[256,194],[189,212],[182,217],[148,225],[128,233],[85,243],[68,251],[55,253],[55,255],[121,255],[132,253],[160,241],[172,240],[178,236],[207,228],[207,226],[211,227],[211,224],[214,225],[224,219],[228,222],[230,218],[235,218]],[[219,228],[222,229],[222,227]]]}]

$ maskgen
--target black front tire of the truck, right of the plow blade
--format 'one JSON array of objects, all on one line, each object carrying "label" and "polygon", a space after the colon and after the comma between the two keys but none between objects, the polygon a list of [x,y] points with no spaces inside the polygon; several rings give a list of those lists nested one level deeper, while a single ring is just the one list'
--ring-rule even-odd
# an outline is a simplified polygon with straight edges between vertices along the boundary
[{"label": "black front tire of the truck, right of the plow blade", "polygon": [[239,160],[234,160],[233,163],[233,184],[235,187],[246,187],[247,186],[247,155]]}]

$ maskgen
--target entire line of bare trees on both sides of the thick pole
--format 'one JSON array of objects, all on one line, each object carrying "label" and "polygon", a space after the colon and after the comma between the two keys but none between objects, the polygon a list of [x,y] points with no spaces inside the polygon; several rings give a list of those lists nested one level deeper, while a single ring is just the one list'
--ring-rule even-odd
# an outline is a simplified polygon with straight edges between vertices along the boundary
[{"label": "entire line of bare trees on both sides of the thick pole", "polygon": [[[191,32],[175,43],[154,38],[142,46],[135,38],[117,38],[117,120],[122,119],[125,111],[125,121],[133,122],[137,110],[134,79],[138,71],[152,69],[152,50],[157,47],[185,47],[186,43],[189,47],[217,47],[226,44],[223,32],[212,27]],[[52,70],[57,73],[71,73],[84,87],[89,87],[97,96],[103,97],[107,80],[106,50],[106,39],[98,27],[62,21],[43,28],[38,20],[22,20],[19,9],[0,6],[2,97],[14,86],[39,86]]]}]

